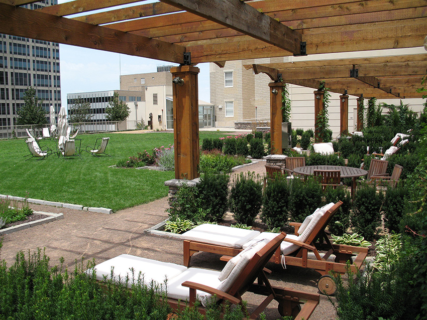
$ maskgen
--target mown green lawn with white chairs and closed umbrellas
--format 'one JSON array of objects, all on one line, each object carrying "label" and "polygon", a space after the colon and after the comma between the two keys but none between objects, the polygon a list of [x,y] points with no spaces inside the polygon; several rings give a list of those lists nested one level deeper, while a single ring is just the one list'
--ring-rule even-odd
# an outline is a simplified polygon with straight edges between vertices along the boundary
[{"label": "mown green lawn with white chairs and closed umbrellas", "polygon": [[[225,132],[200,132],[200,144],[205,137],[226,136]],[[111,157],[94,157],[83,152],[79,157],[64,159],[51,155],[36,161],[25,161],[29,154],[24,139],[0,140],[0,194],[59,201],[87,207],[105,207],[114,211],[133,207],[165,197],[164,182],[174,178],[174,172],[115,169],[119,159],[173,144],[173,133],[142,134],[98,133],[79,134],[81,145],[92,145],[95,139],[109,136],[106,153]],[[78,142],[78,141],[76,141]],[[56,150],[55,140],[41,140]]]}]

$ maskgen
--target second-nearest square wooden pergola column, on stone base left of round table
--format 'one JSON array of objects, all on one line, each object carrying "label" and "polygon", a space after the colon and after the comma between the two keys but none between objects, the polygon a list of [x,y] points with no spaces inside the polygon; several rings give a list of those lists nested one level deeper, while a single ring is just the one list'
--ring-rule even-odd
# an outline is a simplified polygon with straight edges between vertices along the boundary
[{"label": "second-nearest square wooden pergola column, on stone base left of round table", "polygon": [[271,154],[282,154],[282,82],[270,82]]}]

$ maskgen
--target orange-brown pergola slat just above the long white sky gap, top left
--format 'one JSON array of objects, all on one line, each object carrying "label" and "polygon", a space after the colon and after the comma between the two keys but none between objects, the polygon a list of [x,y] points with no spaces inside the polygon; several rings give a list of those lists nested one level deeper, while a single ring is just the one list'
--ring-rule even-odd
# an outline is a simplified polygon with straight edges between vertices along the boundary
[{"label": "orange-brown pergola slat just above the long white sky gap, top left", "polygon": [[66,2],[60,5],[49,6],[42,9],[38,9],[45,14],[55,15],[59,17],[69,16],[73,14],[79,14],[82,12],[88,12],[92,10],[111,8],[120,5],[132,4],[139,2],[138,0],[100,0],[100,1],[87,1],[87,0],[75,0]]}]

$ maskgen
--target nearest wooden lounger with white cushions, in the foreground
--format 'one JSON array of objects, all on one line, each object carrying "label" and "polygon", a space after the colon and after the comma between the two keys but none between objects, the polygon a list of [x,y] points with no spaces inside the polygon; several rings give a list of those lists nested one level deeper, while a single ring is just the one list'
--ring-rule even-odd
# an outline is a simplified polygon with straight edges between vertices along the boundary
[{"label": "nearest wooden lounger with white cushions, in the foreground", "polygon": [[[258,307],[252,310],[250,319],[256,319],[273,299],[279,302],[280,314],[294,315],[296,319],[308,319],[319,302],[319,295],[272,286],[266,275],[267,270],[264,269],[284,238],[285,234],[281,233],[273,239],[254,243],[230,259],[222,271],[187,268],[174,263],[122,254],[95,265],[93,269],[88,269],[87,273],[95,273],[96,279],[100,281],[114,277],[114,280],[119,282],[129,277],[130,287],[137,283],[138,277],[146,285],[154,281],[165,291],[167,302],[174,310],[182,307],[184,301],[193,306],[196,300],[201,302],[201,312],[210,303],[231,302],[246,309],[242,303],[242,295],[249,291],[266,296]],[[255,281],[257,278],[258,281]]]}]

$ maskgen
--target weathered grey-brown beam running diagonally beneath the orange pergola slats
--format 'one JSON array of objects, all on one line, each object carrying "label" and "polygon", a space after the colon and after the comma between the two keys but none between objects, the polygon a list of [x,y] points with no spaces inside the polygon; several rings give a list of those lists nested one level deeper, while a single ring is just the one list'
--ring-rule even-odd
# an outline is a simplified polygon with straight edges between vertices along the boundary
[{"label": "weathered grey-brown beam running diagonally beneath the orange pergola slats", "polygon": [[300,53],[301,34],[261,14],[255,8],[240,0],[217,0],[215,2],[197,3],[191,0],[162,0],[162,2],[291,53]]}]

